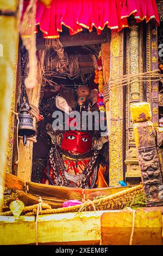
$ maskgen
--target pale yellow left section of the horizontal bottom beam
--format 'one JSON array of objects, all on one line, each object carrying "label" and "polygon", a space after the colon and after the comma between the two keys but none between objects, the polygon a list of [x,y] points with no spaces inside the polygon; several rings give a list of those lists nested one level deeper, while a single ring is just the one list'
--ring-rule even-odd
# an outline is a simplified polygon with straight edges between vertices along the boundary
[{"label": "pale yellow left section of the horizontal bottom beam", "polygon": [[[38,218],[39,244],[90,245],[99,243],[100,219],[103,211],[42,215]],[[36,242],[35,218],[21,216],[17,220],[0,216],[0,245],[29,245]]]}]

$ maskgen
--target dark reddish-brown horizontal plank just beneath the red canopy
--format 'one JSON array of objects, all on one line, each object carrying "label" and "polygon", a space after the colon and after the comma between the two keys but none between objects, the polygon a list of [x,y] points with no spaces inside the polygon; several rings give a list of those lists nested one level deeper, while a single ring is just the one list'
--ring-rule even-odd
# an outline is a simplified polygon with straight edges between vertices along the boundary
[{"label": "dark reddish-brown horizontal plank just beneath the red canopy", "polygon": [[[106,33],[97,35],[95,32],[85,34],[78,33],[76,35],[61,35],[59,39],[64,47],[103,44],[108,41]],[[45,48],[45,39],[42,38],[41,34],[41,36],[37,37],[37,49],[39,50],[42,48]]]}]

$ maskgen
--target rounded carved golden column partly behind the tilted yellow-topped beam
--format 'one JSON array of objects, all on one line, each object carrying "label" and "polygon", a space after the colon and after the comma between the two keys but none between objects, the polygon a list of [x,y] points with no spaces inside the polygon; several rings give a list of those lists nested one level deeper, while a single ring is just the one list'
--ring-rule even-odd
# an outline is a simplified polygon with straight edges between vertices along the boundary
[{"label": "rounded carved golden column partly behind the tilted yellow-topped beam", "polygon": [[[142,25],[137,25],[136,21],[130,20],[130,26],[127,32],[127,53],[126,63],[127,74],[138,74],[143,71],[142,65],[142,46],[143,46]],[[137,78],[136,78],[137,80]],[[130,119],[130,105],[142,100],[143,85],[140,82],[133,82],[126,88],[126,178],[140,177],[139,162],[136,154],[133,123]],[[130,179],[131,182],[131,179]]]}]

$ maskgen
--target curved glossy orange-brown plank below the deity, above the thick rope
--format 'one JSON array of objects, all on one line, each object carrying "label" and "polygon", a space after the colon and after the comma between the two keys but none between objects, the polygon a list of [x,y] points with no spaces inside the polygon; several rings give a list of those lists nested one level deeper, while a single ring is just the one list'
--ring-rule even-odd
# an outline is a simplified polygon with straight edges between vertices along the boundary
[{"label": "curved glossy orange-brown plank below the deity, above the thick rope", "polygon": [[[83,190],[80,187],[62,187],[62,186],[51,186],[46,184],[39,184],[35,182],[26,182],[25,180],[18,178],[17,176],[9,173],[5,173],[5,186],[15,190],[25,191],[25,184],[27,186],[28,193],[36,194],[45,197],[57,197],[64,200],[78,199],[82,200],[93,200],[99,196],[110,196],[117,192],[127,190],[126,187],[106,187],[106,188],[91,188]],[[131,186],[130,186],[131,187]]]}]

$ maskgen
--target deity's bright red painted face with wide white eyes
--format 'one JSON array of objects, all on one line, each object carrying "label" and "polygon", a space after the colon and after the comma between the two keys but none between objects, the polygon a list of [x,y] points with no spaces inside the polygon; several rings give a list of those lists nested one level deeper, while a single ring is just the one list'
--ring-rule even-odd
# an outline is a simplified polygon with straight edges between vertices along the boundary
[{"label": "deity's bright red painted face with wide white eyes", "polygon": [[64,133],[61,148],[75,153],[88,153],[91,151],[92,136],[88,132],[67,131]]}]

